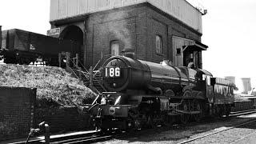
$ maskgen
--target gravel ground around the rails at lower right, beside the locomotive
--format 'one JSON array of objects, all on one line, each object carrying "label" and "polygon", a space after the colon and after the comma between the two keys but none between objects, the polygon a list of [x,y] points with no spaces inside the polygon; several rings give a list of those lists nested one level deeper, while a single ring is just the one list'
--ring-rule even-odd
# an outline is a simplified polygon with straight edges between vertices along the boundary
[{"label": "gravel ground around the rails at lower right, beside the locomotive", "polygon": [[[140,130],[129,134],[125,138],[112,139],[98,143],[178,143],[190,138],[197,138],[205,134],[223,130],[238,125],[242,122],[256,118],[256,114],[240,116],[237,118],[207,119],[205,122],[191,122],[186,126],[175,125],[169,128],[159,127],[158,129]],[[201,140],[190,143],[230,143],[246,136],[256,130],[256,122],[247,126],[240,126],[232,130],[226,130],[221,134],[214,134]]]}]

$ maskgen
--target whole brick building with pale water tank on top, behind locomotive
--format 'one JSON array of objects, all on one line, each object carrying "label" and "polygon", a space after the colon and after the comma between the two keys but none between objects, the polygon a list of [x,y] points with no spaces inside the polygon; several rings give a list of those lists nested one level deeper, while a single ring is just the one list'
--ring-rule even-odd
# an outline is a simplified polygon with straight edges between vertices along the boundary
[{"label": "whole brick building with pale water tank on top, behind locomotive", "polygon": [[81,44],[80,58],[94,66],[102,54],[134,50],[150,62],[202,68],[202,12],[186,0],[51,0],[48,34]]}]

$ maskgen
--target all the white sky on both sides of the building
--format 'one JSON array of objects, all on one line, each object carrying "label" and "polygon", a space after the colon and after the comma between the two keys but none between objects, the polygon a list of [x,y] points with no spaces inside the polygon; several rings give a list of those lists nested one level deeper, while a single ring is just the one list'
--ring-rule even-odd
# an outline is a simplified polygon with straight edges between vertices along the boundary
[{"label": "all the white sky on both sides of the building", "polygon": [[[256,0],[200,1],[208,13],[202,16],[203,69],[216,77],[252,78],[256,86]],[[46,34],[50,29],[50,0],[0,0],[2,30],[18,28]]]}]

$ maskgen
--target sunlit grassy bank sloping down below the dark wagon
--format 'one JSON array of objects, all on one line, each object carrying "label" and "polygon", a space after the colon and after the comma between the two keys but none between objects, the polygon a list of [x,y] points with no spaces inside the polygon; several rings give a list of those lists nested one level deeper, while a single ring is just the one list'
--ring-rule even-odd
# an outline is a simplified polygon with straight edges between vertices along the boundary
[{"label": "sunlit grassy bank sloping down below the dark wagon", "polygon": [[0,65],[0,86],[37,88],[37,107],[80,106],[95,94],[59,67]]}]

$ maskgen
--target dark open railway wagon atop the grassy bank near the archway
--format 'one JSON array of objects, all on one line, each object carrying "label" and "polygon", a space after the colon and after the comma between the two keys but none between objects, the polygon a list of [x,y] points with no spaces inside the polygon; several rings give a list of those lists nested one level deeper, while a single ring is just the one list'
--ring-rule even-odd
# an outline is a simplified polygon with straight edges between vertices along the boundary
[{"label": "dark open railway wagon atop the grassy bank near the archway", "polygon": [[39,61],[58,66],[58,54],[69,52],[70,58],[74,58],[75,54],[80,54],[80,48],[78,42],[66,39],[18,29],[2,30],[0,58],[5,63],[30,64]]}]

